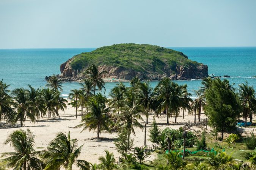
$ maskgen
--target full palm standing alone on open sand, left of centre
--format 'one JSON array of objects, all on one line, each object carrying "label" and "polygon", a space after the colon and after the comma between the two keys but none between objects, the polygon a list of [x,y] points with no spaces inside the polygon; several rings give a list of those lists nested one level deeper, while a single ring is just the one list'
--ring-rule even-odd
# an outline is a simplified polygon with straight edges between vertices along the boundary
[{"label": "full palm standing alone on open sand, left of centre", "polygon": [[111,133],[109,126],[112,121],[110,119],[110,108],[105,105],[107,99],[102,97],[100,93],[97,96],[89,99],[89,112],[82,117],[82,124],[77,125],[75,128],[84,127],[82,131],[85,129],[89,129],[89,131],[97,129],[97,139],[99,139],[101,131],[106,130]]}]

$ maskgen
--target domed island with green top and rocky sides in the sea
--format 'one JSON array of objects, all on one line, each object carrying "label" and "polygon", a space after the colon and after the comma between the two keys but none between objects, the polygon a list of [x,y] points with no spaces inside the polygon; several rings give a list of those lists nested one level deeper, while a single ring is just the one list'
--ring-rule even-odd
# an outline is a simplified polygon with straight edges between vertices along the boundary
[{"label": "domed island with green top and rocky sides in the sea", "polygon": [[116,44],[81,53],[61,64],[58,78],[77,81],[90,65],[99,71],[107,71],[104,80],[130,80],[138,76],[141,80],[203,79],[208,77],[208,67],[189,60],[182,52],[146,44]]}]

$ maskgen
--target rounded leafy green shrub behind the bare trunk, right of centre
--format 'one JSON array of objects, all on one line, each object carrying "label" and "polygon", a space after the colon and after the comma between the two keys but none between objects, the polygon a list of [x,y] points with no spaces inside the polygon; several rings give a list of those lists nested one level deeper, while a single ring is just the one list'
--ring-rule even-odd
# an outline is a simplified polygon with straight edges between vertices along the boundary
[{"label": "rounded leafy green shrub behind the bare trunk, right of centre", "polygon": [[[183,137],[182,137],[182,130],[172,129],[172,128],[165,128],[161,134],[165,133],[166,137],[173,136],[173,144],[175,147],[180,148],[183,146]],[[187,140],[186,146],[193,147],[196,142],[196,135],[192,131],[187,131]]]}]

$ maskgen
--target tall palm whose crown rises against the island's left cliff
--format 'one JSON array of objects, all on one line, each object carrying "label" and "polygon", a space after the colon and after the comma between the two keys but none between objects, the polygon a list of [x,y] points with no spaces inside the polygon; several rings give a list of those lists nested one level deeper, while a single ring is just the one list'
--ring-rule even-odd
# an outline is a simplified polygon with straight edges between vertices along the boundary
[{"label": "tall palm whose crown rises against the island's left cliff", "polygon": [[104,85],[104,81],[102,79],[102,76],[104,74],[106,74],[107,71],[101,71],[99,72],[98,68],[92,64],[90,67],[88,67],[86,70],[85,70],[85,73],[86,75],[88,75],[90,77],[90,79],[93,81],[93,84],[94,84],[94,90],[93,90],[93,93],[95,95],[95,91],[96,91],[96,86],[99,88],[99,90],[102,90],[102,88],[105,89]]}]

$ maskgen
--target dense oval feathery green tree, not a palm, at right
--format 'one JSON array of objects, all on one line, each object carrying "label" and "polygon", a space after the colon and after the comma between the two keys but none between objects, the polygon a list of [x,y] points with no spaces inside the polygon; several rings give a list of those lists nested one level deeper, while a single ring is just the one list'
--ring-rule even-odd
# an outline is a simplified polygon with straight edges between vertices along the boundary
[{"label": "dense oval feathery green tree, not a palm, at right", "polygon": [[231,130],[236,126],[240,114],[240,102],[227,80],[215,79],[206,90],[204,111],[209,117],[209,125],[221,132]]}]

